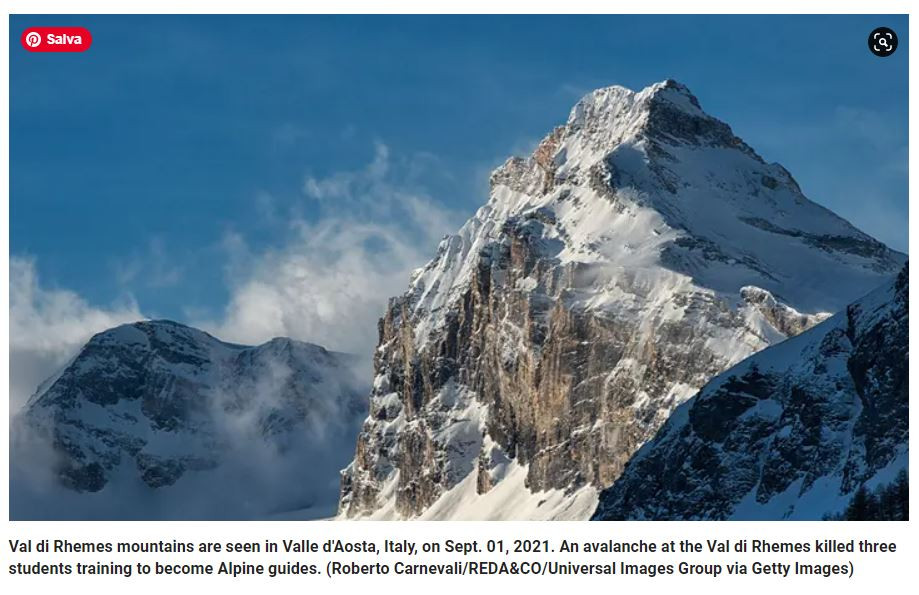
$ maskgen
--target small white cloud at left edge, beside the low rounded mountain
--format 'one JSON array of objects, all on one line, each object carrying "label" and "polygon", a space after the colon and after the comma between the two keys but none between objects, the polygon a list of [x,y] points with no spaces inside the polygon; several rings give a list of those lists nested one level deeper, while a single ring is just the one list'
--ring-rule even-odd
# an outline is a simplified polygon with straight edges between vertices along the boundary
[{"label": "small white cloud at left edge, beside the low rounded mountain", "polygon": [[34,261],[10,258],[10,412],[16,412],[95,333],[143,318],[133,300],[108,309],[42,287]]}]

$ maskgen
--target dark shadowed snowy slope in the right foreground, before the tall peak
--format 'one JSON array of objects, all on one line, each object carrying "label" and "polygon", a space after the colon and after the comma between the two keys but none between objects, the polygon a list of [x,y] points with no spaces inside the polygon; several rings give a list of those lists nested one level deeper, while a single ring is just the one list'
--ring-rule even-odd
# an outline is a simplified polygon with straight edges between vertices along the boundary
[{"label": "dark shadowed snowy slope in the right foreground, before the tall peak", "polygon": [[909,278],[744,360],[600,496],[610,519],[812,519],[908,468]]}]

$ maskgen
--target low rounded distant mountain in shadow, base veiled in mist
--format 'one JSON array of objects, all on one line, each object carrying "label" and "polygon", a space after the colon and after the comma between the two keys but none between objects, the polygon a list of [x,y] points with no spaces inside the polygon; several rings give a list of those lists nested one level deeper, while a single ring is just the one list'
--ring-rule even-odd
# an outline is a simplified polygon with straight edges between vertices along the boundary
[{"label": "low rounded distant mountain in shadow, base veiled in mist", "polygon": [[[17,418],[13,517],[327,514],[367,390],[352,356],[317,345],[233,345],[169,321],[110,329]],[[35,487],[42,444],[32,466],[66,490]]]}]

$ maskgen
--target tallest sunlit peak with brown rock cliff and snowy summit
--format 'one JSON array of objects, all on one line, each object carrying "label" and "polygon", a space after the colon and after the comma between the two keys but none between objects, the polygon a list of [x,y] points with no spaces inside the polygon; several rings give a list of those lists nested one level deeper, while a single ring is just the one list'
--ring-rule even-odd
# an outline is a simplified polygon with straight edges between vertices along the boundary
[{"label": "tallest sunlit peak with brown rock cliff and snowy summit", "polygon": [[587,518],[705,382],[904,261],[685,86],[594,91],[391,300],[339,512]]}]

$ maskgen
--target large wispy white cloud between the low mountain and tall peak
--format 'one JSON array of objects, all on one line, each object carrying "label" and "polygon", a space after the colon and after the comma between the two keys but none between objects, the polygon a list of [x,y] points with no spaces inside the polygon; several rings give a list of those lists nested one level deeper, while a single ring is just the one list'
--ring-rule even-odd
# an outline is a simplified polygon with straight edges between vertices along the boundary
[{"label": "large wispy white cloud between the low mountain and tall peak", "polygon": [[230,341],[288,336],[369,356],[387,300],[405,291],[411,271],[459,223],[400,183],[436,164],[427,155],[394,163],[377,143],[362,169],[307,176],[303,192],[319,215],[294,217],[284,247],[258,254],[243,236],[227,234],[231,299],[222,320],[197,324]]}]

